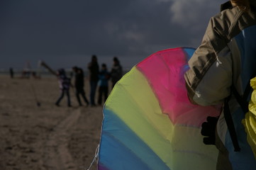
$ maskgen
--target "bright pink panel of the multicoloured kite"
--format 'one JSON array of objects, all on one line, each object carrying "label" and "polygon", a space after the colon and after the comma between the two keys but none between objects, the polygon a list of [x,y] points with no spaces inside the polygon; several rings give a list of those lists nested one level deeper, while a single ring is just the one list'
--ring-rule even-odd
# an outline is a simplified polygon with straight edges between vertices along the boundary
[{"label": "bright pink panel of the multicoloured kite", "polygon": [[162,50],[136,67],[148,79],[162,113],[168,114],[172,123],[200,127],[207,116],[218,115],[218,110],[212,106],[196,106],[189,102],[184,73],[190,57],[182,47]]}]

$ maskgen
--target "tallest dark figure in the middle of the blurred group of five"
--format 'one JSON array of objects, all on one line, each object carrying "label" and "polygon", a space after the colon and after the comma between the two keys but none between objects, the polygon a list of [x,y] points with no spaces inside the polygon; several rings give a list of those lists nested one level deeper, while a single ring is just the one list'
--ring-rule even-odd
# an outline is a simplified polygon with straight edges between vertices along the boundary
[{"label": "tallest dark figure in the middle of the blurred group of five", "polygon": [[97,62],[96,55],[91,56],[91,62],[88,64],[88,69],[89,69],[89,82],[90,82],[90,103],[91,103],[91,106],[96,106],[94,98],[95,98],[97,83],[99,81],[99,77],[98,77],[99,64]]}]

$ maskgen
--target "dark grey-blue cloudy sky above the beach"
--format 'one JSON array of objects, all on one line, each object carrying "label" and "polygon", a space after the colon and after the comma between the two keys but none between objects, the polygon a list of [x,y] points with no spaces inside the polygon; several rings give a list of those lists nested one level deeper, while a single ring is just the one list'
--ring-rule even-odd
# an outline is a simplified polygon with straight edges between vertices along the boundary
[{"label": "dark grey-blue cloudy sky above the beach", "polygon": [[91,55],[132,67],[172,47],[198,47],[223,0],[1,0],[0,69],[87,67]]}]

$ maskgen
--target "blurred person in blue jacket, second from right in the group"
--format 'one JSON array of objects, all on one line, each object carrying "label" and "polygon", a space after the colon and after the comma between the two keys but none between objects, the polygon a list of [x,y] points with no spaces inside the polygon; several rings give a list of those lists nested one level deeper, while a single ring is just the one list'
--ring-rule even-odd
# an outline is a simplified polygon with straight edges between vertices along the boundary
[{"label": "blurred person in blue jacket, second from right in the group", "polygon": [[99,72],[99,98],[98,104],[101,105],[102,98],[104,97],[104,102],[106,98],[108,98],[108,79],[110,78],[110,74],[106,67],[106,64],[101,65],[101,71]]}]

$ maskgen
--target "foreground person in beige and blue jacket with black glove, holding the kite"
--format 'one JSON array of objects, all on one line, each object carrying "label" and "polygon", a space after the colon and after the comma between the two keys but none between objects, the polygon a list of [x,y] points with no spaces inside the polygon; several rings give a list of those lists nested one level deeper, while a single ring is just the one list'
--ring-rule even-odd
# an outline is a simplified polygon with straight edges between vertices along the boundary
[{"label": "foreground person in beige and blue jacket with black glove, holding the kite", "polygon": [[[218,118],[203,124],[204,143],[219,149],[216,169],[256,169],[256,157],[242,120],[246,107],[237,98],[256,76],[256,1],[231,0],[208,24],[201,45],[189,60],[184,74],[191,103],[223,105]],[[245,108],[245,109],[243,109]],[[215,120],[214,120],[215,119]],[[207,129],[214,127],[213,132]],[[204,130],[206,128],[206,130]],[[214,130],[215,129],[215,130]],[[214,132],[215,131],[215,132]]]}]

